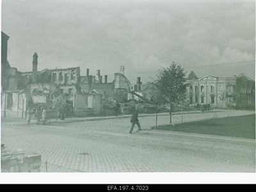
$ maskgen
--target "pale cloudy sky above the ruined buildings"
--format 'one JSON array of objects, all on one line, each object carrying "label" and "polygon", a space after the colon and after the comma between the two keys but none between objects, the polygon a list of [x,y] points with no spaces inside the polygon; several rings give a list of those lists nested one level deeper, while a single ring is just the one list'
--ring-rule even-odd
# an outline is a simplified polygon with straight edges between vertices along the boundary
[{"label": "pale cloudy sky above the ruined buildings", "polygon": [[80,66],[109,81],[124,65],[147,82],[173,61],[198,77],[255,78],[254,0],[2,0],[1,17],[19,71],[36,52],[38,70]]}]

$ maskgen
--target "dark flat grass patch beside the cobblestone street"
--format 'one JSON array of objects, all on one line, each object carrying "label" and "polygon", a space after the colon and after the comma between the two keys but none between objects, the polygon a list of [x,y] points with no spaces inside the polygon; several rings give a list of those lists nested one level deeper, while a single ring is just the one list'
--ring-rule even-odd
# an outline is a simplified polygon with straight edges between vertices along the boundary
[{"label": "dark flat grass patch beside the cobblestone street", "polygon": [[184,122],[174,126],[152,127],[152,129],[255,139],[255,114]]}]

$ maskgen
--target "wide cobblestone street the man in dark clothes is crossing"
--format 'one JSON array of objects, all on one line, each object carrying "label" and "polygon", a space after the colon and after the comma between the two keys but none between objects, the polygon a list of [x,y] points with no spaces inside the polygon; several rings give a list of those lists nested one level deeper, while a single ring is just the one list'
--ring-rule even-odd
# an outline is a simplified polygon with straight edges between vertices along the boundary
[{"label": "wide cobblestone street the man in dark clothes is crossing", "polygon": [[[184,113],[183,119],[254,113]],[[1,142],[8,148],[41,154],[41,172],[255,172],[255,140],[152,130],[156,117],[142,114],[142,131],[135,126],[129,134],[129,117],[72,118],[64,121],[68,123],[52,120],[46,126],[4,118]],[[158,124],[168,121],[168,114],[159,115]],[[180,121],[180,114],[173,114],[173,123]]]}]

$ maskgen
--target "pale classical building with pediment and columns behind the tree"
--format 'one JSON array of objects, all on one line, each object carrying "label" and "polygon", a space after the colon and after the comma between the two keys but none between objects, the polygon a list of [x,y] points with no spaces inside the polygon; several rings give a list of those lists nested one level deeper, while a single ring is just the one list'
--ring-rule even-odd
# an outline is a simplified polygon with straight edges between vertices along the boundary
[{"label": "pale classical building with pediment and columns behind the tree", "polygon": [[233,77],[212,77],[205,75],[197,78],[191,71],[187,79],[188,103],[205,103],[214,108],[227,108],[239,105],[242,108],[255,107],[255,81],[243,73]]}]

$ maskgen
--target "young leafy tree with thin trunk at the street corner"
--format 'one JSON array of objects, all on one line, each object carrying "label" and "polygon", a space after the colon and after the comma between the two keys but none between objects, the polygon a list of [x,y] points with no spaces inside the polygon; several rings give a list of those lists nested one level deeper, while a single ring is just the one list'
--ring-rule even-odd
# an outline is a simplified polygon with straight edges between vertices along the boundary
[{"label": "young leafy tree with thin trunk at the street corner", "polygon": [[179,104],[186,98],[187,87],[186,73],[177,63],[173,62],[168,68],[158,70],[156,85],[170,104],[170,124],[172,124],[172,105]]}]

